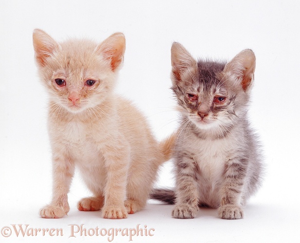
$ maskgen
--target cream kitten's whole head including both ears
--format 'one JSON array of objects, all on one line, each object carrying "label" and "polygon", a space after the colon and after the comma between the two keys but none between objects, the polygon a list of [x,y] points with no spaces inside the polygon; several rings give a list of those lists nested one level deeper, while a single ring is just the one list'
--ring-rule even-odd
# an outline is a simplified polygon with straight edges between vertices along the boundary
[{"label": "cream kitten's whole head including both ears", "polygon": [[99,45],[89,40],[57,43],[35,30],[34,48],[51,101],[78,113],[110,99],[123,61],[125,38],[116,33]]}]

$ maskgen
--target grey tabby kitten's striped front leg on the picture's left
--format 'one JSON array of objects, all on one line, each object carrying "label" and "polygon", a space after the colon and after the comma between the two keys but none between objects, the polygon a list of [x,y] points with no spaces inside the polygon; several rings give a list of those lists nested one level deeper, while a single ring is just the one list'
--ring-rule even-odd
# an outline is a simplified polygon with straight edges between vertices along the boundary
[{"label": "grey tabby kitten's striped front leg on the picture's left", "polygon": [[172,217],[193,219],[198,211],[196,164],[188,157],[179,157],[176,164],[176,204]]}]

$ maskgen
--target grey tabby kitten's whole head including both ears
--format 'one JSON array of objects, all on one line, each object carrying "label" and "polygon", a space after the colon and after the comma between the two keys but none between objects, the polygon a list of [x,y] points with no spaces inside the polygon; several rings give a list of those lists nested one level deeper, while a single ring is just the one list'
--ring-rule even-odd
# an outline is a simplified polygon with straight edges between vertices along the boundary
[{"label": "grey tabby kitten's whole head including both ears", "polygon": [[[181,44],[173,44],[172,90],[177,97],[180,111],[198,129],[222,132],[228,130],[243,115],[244,106],[249,100],[248,87],[253,78],[253,65],[255,67],[253,52],[244,52],[246,53],[240,53],[227,64],[197,62]],[[250,61],[247,59],[249,56]],[[250,77],[246,77],[247,83],[243,86],[244,72],[250,68],[253,72],[248,74]]]}]

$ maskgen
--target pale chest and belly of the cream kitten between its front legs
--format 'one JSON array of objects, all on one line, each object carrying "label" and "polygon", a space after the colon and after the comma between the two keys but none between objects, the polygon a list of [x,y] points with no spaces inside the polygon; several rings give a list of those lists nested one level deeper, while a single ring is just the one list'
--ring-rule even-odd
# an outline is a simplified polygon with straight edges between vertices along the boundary
[{"label": "pale chest and belly of the cream kitten between its front legs", "polygon": [[100,195],[105,187],[107,170],[96,140],[101,136],[99,130],[79,121],[49,128],[53,153],[72,158],[88,188]]}]

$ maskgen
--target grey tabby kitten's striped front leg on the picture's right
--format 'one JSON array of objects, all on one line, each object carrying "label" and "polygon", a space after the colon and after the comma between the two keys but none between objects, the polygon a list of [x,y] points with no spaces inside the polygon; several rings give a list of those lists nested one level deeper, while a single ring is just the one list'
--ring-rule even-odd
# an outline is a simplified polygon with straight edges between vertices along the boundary
[{"label": "grey tabby kitten's striped front leg on the picture's right", "polygon": [[226,164],[221,206],[218,208],[220,218],[234,220],[244,217],[241,200],[246,171],[246,162],[230,161]]}]

